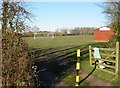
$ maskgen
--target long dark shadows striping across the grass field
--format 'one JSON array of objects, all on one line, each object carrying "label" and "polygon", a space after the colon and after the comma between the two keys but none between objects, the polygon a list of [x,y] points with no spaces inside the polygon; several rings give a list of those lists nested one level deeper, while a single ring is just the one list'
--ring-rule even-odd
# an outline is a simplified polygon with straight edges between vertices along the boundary
[{"label": "long dark shadows striping across the grass field", "polygon": [[38,67],[37,71],[40,81],[42,81],[42,83],[44,83],[47,86],[53,86],[59,83],[60,79],[67,75],[68,69],[75,65],[77,49],[82,50],[81,58],[84,60],[84,55],[88,56],[89,45],[99,46],[101,45],[101,43],[77,45],[74,47],[66,49],[64,48],[61,50],[57,50],[54,48],[49,48],[46,50],[34,49],[35,50],[34,54],[37,56],[35,56],[33,59],[36,59],[34,63]]}]

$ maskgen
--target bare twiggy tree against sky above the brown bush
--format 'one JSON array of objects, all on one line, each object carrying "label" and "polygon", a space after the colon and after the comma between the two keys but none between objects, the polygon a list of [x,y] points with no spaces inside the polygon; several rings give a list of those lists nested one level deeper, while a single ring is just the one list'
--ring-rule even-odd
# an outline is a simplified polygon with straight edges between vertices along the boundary
[{"label": "bare twiggy tree against sky above the brown bush", "polygon": [[30,13],[25,9],[25,6],[23,2],[3,0],[2,33],[21,32],[25,29],[25,20],[30,17]]}]

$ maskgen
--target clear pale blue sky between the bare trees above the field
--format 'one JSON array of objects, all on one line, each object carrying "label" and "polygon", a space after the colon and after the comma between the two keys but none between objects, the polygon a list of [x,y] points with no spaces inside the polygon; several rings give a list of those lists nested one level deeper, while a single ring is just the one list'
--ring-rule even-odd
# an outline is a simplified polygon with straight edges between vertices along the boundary
[{"label": "clear pale blue sky between the bare trees above the field", "polygon": [[31,26],[55,31],[61,28],[106,26],[102,2],[29,2]]}]

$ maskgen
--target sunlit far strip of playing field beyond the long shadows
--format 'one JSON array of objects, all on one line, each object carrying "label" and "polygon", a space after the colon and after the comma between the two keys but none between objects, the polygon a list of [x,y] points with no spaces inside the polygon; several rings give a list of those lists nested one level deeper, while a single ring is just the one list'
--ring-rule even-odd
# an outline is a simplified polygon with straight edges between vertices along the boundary
[{"label": "sunlit far strip of playing field beyond the long shadows", "polygon": [[57,47],[71,47],[76,45],[83,45],[93,42],[92,35],[82,35],[82,36],[63,36],[55,37],[37,37],[36,39],[25,38],[31,48],[57,48]]}]

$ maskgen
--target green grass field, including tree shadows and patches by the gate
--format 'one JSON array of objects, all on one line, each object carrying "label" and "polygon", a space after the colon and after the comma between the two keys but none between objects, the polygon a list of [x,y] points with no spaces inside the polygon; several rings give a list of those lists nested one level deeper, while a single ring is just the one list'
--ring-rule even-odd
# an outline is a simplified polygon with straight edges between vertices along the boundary
[{"label": "green grass field, including tree shadows and patches by the gate", "polygon": [[[89,66],[89,45],[102,46],[104,42],[94,42],[93,36],[64,36],[51,38],[24,38],[32,51],[34,51],[34,59],[39,70],[48,69],[53,71],[60,80],[65,81],[68,85],[75,85],[75,69],[68,71],[76,63],[76,50],[81,49],[82,67],[86,72],[90,72],[93,68]],[[94,75],[100,79],[118,85],[114,76],[96,70]],[[55,78],[55,77],[54,77]],[[53,79],[53,78],[52,78]],[[82,85],[87,85],[83,82]]]}]

